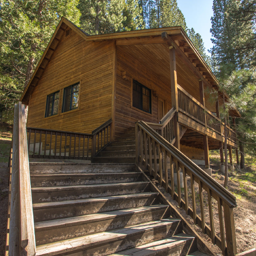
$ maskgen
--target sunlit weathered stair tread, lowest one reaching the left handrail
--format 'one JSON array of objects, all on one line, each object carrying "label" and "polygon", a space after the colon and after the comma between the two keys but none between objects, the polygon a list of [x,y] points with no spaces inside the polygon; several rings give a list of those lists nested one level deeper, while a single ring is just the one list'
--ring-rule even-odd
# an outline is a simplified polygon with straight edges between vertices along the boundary
[{"label": "sunlit weathered stair tread, lowest one reaching the left handrail", "polygon": [[154,228],[171,225],[174,222],[180,221],[175,218],[167,218],[162,220],[150,221],[144,224],[134,225],[126,228],[115,229],[111,231],[101,232],[97,234],[80,236],[68,240],[62,240],[50,244],[42,244],[36,246],[36,256],[39,255],[54,255],[72,250],[83,249],[89,246],[97,246],[104,243],[111,243],[117,239],[125,239],[136,233],[146,233]]}]

